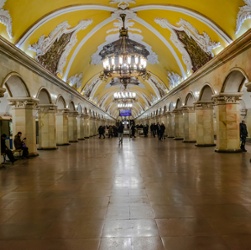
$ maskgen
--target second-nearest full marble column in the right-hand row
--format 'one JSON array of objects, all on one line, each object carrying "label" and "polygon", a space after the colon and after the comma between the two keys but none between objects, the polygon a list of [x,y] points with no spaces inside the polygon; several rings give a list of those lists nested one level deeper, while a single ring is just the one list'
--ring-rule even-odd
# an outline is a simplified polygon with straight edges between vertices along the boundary
[{"label": "second-nearest full marble column in the right-hand row", "polygon": [[211,147],[214,143],[213,102],[195,103],[196,146]]}]

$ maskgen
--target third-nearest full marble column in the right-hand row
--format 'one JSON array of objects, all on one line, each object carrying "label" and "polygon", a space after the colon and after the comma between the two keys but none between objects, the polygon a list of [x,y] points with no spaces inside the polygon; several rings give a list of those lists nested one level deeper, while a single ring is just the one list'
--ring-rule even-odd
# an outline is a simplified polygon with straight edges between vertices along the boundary
[{"label": "third-nearest full marble column in the right-hand row", "polygon": [[184,106],[183,119],[184,119],[184,139],[183,142],[195,143],[196,142],[196,114],[194,107]]}]

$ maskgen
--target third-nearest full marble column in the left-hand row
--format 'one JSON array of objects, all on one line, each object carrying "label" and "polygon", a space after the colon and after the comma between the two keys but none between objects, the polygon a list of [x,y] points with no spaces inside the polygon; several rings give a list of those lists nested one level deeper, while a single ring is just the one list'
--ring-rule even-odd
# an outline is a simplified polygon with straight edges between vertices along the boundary
[{"label": "third-nearest full marble column in the left-hand row", "polygon": [[69,112],[69,109],[58,109],[56,113],[57,146],[70,145],[68,112]]}]

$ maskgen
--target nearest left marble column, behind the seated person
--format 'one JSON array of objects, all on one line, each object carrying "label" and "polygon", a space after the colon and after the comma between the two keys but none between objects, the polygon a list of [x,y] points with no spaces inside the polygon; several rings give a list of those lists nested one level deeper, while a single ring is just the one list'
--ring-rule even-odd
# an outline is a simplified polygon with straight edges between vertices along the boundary
[{"label": "nearest left marble column, behind the seated person", "polygon": [[29,148],[29,156],[37,156],[36,144],[36,113],[38,99],[31,97],[8,99],[12,106],[13,136],[22,132],[22,138],[26,137],[26,144]]}]

